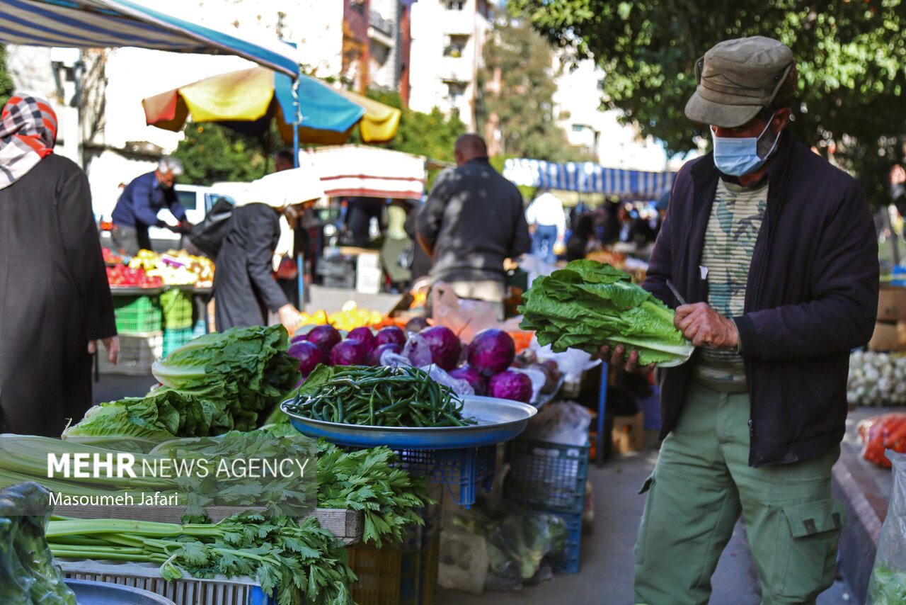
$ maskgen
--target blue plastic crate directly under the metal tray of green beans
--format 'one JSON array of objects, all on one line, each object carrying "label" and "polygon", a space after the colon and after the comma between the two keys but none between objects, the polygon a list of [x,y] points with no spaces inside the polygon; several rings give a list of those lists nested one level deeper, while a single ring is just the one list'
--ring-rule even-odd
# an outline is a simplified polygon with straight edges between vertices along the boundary
[{"label": "blue plastic crate directly under the metal tray of green beans", "polygon": [[494,483],[496,445],[461,447],[450,450],[398,450],[402,468],[410,474],[428,477],[429,483],[443,483],[453,502],[475,503],[478,489],[490,491]]}]

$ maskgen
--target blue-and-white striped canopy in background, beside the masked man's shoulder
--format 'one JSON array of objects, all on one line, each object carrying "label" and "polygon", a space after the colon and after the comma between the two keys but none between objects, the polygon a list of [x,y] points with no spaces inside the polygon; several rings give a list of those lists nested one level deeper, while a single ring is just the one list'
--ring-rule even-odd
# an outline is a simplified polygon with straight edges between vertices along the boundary
[{"label": "blue-and-white striped canopy in background, beside the masked man's shoulder", "polygon": [[626,171],[604,168],[591,161],[567,161],[556,164],[543,160],[510,158],[504,162],[504,176],[526,187],[603,193],[635,200],[657,200],[670,188],[673,172]]}]

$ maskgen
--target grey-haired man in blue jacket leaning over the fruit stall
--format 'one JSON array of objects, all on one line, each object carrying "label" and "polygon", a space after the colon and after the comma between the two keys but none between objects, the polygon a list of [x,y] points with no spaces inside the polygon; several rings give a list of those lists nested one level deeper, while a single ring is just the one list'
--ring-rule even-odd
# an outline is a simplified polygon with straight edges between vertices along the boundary
[{"label": "grey-haired man in blue jacket leaning over the fruit stall", "polygon": [[[183,234],[192,229],[192,224],[186,220],[186,209],[173,190],[173,183],[180,174],[182,162],[164,156],[156,171],[146,172],[126,186],[111,214],[111,238],[120,253],[134,257],[140,249],[151,249],[149,227],[163,227]],[[158,212],[165,206],[179,221],[177,226],[158,219]]]}]

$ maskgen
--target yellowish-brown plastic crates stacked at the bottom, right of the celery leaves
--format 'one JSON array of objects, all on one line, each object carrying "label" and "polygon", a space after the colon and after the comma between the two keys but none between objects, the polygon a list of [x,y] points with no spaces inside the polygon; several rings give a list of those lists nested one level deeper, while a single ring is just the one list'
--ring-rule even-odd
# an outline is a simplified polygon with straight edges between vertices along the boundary
[{"label": "yellowish-brown plastic crates stacked at the bottom, right of the celery leaves", "polygon": [[381,548],[356,544],[347,549],[349,566],[359,578],[352,584],[352,599],[359,605],[433,605],[442,487],[430,486],[429,496],[438,503],[419,512],[425,524],[407,528],[402,544]]}]

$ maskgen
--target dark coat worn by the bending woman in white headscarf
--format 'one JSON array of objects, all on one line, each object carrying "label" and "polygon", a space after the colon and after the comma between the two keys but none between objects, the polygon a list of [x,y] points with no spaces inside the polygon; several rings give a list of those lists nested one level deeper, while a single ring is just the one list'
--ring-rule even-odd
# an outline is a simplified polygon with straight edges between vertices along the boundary
[{"label": "dark coat worn by the bending woman in white headscarf", "polygon": [[217,331],[266,326],[267,310],[288,304],[274,279],[271,259],[280,238],[280,215],[266,204],[233,210],[214,269]]}]

